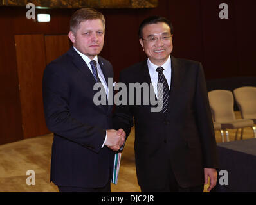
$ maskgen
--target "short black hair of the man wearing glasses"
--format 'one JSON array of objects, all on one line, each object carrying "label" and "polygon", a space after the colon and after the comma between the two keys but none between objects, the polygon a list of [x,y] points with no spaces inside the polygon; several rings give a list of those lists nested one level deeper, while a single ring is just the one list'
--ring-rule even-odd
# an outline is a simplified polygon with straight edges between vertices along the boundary
[{"label": "short black hair of the man wearing glasses", "polygon": [[147,26],[149,24],[157,24],[158,22],[163,22],[163,23],[167,24],[170,27],[170,33],[173,34],[173,27],[172,27],[172,23],[170,22],[170,20],[165,19],[165,17],[152,16],[152,17],[148,17],[147,19],[144,19],[142,21],[142,23],[140,24],[139,31],[138,31],[139,38],[143,38],[142,30],[145,26]]}]

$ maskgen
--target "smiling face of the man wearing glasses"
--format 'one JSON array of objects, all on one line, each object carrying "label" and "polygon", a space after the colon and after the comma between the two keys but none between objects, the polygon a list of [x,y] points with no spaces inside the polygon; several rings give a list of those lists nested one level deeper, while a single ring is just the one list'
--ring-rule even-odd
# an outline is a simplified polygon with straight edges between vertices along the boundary
[{"label": "smiling face of the man wearing glasses", "polygon": [[[155,65],[161,66],[172,52],[172,35],[170,27],[164,22],[148,24],[142,29],[140,39],[143,51]],[[161,38],[161,39],[160,39]]]}]

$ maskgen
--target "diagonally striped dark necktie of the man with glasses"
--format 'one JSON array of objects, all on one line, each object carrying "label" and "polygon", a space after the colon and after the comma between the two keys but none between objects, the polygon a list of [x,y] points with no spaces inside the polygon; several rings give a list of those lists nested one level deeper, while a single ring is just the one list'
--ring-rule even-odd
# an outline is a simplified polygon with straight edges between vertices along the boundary
[{"label": "diagonally striped dark necktie of the man with glasses", "polygon": [[[158,67],[156,72],[158,72],[158,101],[163,103],[162,111],[165,113],[165,111],[167,111],[167,105],[169,102],[169,86],[165,75],[163,74],[163,70],[164,69],[162,67]],[[160,86],[159,83],[163,83],[163,86]]]}]

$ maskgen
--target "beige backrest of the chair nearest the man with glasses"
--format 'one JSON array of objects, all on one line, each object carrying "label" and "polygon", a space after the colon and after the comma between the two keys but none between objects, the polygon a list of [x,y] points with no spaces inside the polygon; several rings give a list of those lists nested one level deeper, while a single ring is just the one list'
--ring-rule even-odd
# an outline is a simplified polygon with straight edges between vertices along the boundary
[{"label": "beige backrest of the chair nearest the man with glasses", "polygon": [[233,111],[233,94],[229,90],[212,90],[208,92],[210,108],[215,122],[235,120]]}]

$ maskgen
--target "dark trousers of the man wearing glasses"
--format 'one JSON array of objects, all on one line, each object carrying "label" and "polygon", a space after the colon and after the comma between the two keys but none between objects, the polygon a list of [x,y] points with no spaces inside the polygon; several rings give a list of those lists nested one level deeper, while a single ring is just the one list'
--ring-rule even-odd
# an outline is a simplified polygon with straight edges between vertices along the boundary
[{"label": "dark trousers of the man wearing glasses", "polygon": [[169,170],[169,176],[166,181],[167,183],[162,188],[140,186],[140,189],[142,190],[142,192],[203,192],[204,188],[204,184],[188,188],[180,187],[172,172],[172,168],[170,168]]}]

